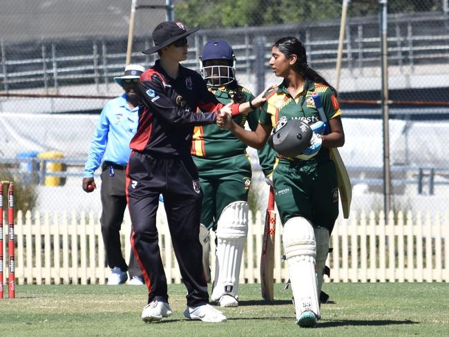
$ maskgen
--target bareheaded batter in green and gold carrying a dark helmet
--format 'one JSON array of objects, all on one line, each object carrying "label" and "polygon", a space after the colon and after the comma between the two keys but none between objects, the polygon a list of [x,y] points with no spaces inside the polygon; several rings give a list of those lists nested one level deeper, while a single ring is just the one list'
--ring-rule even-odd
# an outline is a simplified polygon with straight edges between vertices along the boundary
[{"label": "bareheaded batter in green and gold carrying a dark helmet", "polygon": [[[336,168],[329,148],[343,146],[345,135],[336,90],[307,64],[303,44],[296,37],[278,39],[271,48],[269,65],[283,82],[269,90],[256,131],[245,131],[222,115],[218,125],[229,128],[249,146],[261,148],[274,128],[284,139],[277,153],[273,182],[275,199],[283,223],[283,245],[292,285],[296,323],[313,327],[321,318],[318,294],[323,283],[329,235],[338,216]],[[312,95],[318,93],[328,124],[323,123]],[[299,128],[285,137],[284,130]],[[294,122],[292,122],[294,121]],[[298,136],[312,128],[307,147]],[[323,134],[323,135],[321,135]],[[290,137],[290,138],[289,138]],[[310,139],[310,138],[309,138]],[[291,144],[291,146],[289,146]],[[294,153],[295,146],[303,150]],[[290,148],[289,148],[290,147]],[[275,147],[276,149],[276,147]],[[292,156],[293,153],[293,156]]]}]

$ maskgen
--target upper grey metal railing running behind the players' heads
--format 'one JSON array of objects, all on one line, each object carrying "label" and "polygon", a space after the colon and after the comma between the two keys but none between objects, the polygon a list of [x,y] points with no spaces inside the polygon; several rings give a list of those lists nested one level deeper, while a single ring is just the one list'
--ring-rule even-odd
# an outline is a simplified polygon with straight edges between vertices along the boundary
[{"label": "upper grey metal railing running behind the players' heads", "polygon": [[[389,18],[388,59],[396,66],[447,63],[449,61],[448,16],[435,13],[420,15],[394,15]],[[431,24],[430,24],[431,23]],[[276,37],[294,35],[300,37],[307,46],[309,64],[319,68],[332,68],[336,64],[338,31],[340,22],[336,20],[320,23],[297,23],[269,27],[227,28],[220,30],[200,30],[194,36],[189,48],[187,66],[198,67],[198,57],[203,44],[209,39],[227,39],[237,57],[237,68],[251,72],[260,61],[267,68],[269,48]],[[364,66],[378,66],[380,37],[375,17],[350,19],[347,23],[347,37],[343,49],[343,66],[350,70]],[[424,29],[425,28],[425,29]],[[420,32],[425,31],[425,34]],[[260,39],[264,37],[264,39]],[[330,37],[330,38],[329,38]],[[257,41],[262,41],[265,50],[262,59],[257,54]],[[148,66],[154,55],[142,55],[152,45],[149,37],[135,37],[133,62]],[[30,52],[29,44],[1,43],[0,90],[23,88],[50,88],[58,92],[59,86],[71,84],[107,84],[114,76],[120,76],[126,58],[126,37],[77,41],[76,55],[67,41],[41,41],[35,43],[35,52]],[[21,50],[27,48],[25,56]],[[27,56],[28,55],[28,56]],[[39,55],[37,57],[32,57]],[[98,91],[97,87],[97,91]],[[107,88],[106,88],[107,90]]]}]

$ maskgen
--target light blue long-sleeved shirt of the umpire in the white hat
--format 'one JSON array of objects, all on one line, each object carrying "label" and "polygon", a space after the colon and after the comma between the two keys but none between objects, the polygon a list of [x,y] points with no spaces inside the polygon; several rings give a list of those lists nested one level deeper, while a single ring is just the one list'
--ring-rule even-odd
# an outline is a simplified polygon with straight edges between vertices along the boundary
[{"label": "light blue long-sleeved shirt of the umpire in the white hat", "polygon": [[84,177],[93,173],[104,161],[126,166],[131,149],[129,142],[137,131],[139,106],[131,109],[126,94],[109,101],[99,115],[97,130],[90,143],[90,151],[84,165]]}]

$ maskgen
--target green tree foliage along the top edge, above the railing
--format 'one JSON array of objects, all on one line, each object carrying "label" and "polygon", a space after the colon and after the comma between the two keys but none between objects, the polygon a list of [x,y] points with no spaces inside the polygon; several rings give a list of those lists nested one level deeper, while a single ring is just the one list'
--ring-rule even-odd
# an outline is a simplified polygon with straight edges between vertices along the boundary
[{"label": "green tree foliage along the top edge, above the railing", "polygon": [[[180,0],[175,18],[187,27],[201,28],[268,26],[341,17],[342,0]],[[428,12],[441,10],[441,0],[388,1],[388,12]],[[378,0],[352,0],[349,17],[377,15]]]}]

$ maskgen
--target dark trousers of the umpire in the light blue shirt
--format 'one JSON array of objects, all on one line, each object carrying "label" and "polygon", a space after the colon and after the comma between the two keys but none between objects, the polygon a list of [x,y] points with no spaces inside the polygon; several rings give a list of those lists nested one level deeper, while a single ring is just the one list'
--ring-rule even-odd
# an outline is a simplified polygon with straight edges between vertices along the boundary
[{"label": "dark trousers of the umpire in the light blue shirt", "polygon": [[[102,171],[102,236],[104,248],[106,250],[106,260],[108,267],[119,267],[122,271],[128,271],[129,276],[142,277],[139,264],[135,260],[133,250],[129,258],[129,265],[122,255],[122,245],[120,244],[120,228],[122,227],[123,215],[126,209],[126,173],[124,168],[113,168],[110,174],[108,165],[103,165]],[[111,176],[112,175],[112,176]]]}]

